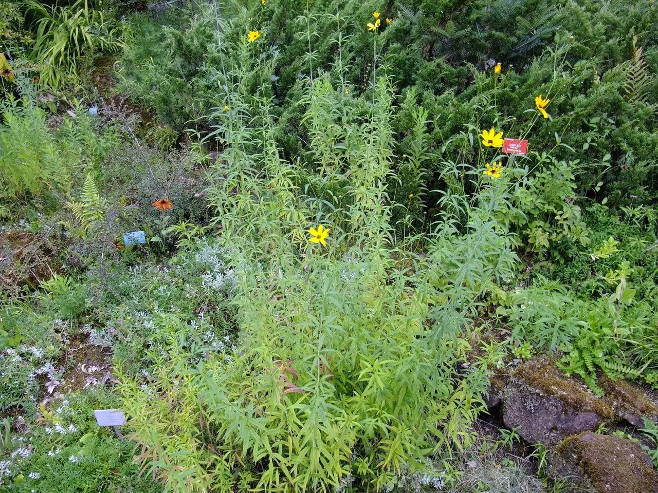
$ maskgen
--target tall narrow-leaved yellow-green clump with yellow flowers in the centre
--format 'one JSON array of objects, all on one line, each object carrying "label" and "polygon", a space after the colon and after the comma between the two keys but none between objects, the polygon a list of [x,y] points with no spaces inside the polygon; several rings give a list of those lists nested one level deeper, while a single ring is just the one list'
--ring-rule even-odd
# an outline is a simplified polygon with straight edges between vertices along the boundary
[{"label": "tall narrow-leaved yellow-green clump with yellow flowers in the centre", "polygon": [[[228,95],[241,112],[216,113],[222,151],[209,191],[237,279],[236,350],[190,347],[178,317],[161,319],[155,379],[121,387],[143,468],[174,491],[327,490],[349,475],[363,488],[393,485],[433,450],[471,441],[486,362],[499,356],[485,351],[454,372],[470,350],[460,333],[472,300],[513,272],[511,237],[492,220],[508,187],[483,187],[463,232],[446,215],[426,258],[393,248],[388,82],[369,107],[340,102],[342,87],[322,74],[307,87],[306,125],[334,129],[309,145],[315,170],[278,154],[271,106],[246,114],[247,89]],[[341,112],[327,101],[351,127],[334,125]],[[332,181],[347,197],[328,206]],[[316,223],[331,227],[326,252],[307,242]]]}]

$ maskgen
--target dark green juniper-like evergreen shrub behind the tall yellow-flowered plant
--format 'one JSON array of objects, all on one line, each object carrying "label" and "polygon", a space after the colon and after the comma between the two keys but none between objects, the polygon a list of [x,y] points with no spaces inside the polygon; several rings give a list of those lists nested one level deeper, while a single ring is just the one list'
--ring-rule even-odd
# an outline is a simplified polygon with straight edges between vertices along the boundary
[{"label": "dark green juniper-like evergreen shrub behind the tall yellow-flowered plant", "polygon": [[[425,134],[420,183],[417,174],[405,177],[401,165],[406,159],[392,163],[401,167],[400,193],[393,194],[398,233],[427,224],[424,215],[435,213],[432,204],[447,186],[444,154],[459,149],[461,139],[451,137],[469,125],[478,133],[480,125],[496,122],[506,136],[527,135],[530,149],[548,156],[537,171],[547,173],[545,179],[569,183],[566,198],[594,195],[594,189],[598,200],[607,194],[615,204],[628,203],[630,195],[643,203],[653,197],[657,143],[652,94],[658,82],[655,57],[643,54],[655,46],[650,33],[657,19],[645,2],[613,1],[597,9],[586,0],[560,5],[499,0],[486,8],[480,2],[415,0],[384,7],[343,0],[336,11],[327,9],[320,1],[247,7],[227,2],[221,9],[212,4],[191,9],[189,21],[171,12],[163,27],[136,17],[139,28],[122,64],[124,83],[174,128],[192,120],[197,131],[204,131],[216,123],[208,108],[223,108],[224,88],[230,87],[217,76],[230,72],[226,64],[233,62],[216,53],[226,41],[243,39],[257,28],[263,35],[253,47],[261,57],[271,55],[272,70],[252,72],[244,86],[251,87],[249,95],[258,90],[274,94],[275,112],[282,116],[276,139],[284,154],[304,158],[299,152],[300,142],[307,142],[298,104],[300,79],[315,80],[328,70],[346,93],[362,93],[369,90],[373,74],[386,71],[400,91],[395,103],[409,108],[395,122],[395,154],[409,155],[411,135],[418,143],[418,130]],[[376,34],[365,29],[372,11],[393,20]],[[500,76],[492,70],[497,61],[505,67]],[[259,83],[251,83],[254,77]],[[213,87],[222,89],[220,97]],[[551,98],[547,121],[536,119],[538,93]],[[416,105],[432,116],[422,127],[410,118]],[[477,149],[470,148],[450,160],[472,162]],[[417,185],[420,189],[414,190]],[[427,191],[426,199],[408,200]],[[586,243],[575,205],[545,205],[557,209],[559,217],[549,223],[530,218],[525,234],[532,250],[550,250],[559,258],[564,247],[555,243],[565,234]]]}]

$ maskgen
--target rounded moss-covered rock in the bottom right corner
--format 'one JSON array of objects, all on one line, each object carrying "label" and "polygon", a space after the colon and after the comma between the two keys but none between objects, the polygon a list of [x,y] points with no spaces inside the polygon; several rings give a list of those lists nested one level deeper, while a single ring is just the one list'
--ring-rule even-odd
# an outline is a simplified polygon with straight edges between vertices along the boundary
[{"label": "rounded moss-covered rock in the bottom right corner", "polygon": [[569,436],[549,458],[555,477],[597,493],[658,493],[658,473],[639,444],[591,432]]}]

